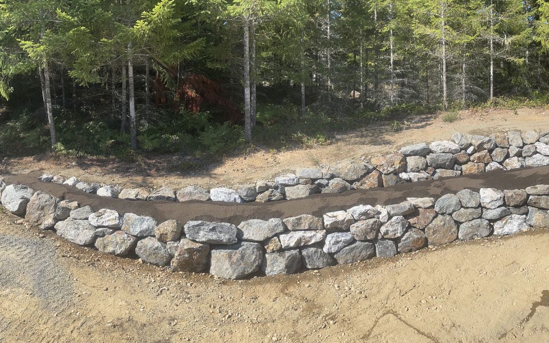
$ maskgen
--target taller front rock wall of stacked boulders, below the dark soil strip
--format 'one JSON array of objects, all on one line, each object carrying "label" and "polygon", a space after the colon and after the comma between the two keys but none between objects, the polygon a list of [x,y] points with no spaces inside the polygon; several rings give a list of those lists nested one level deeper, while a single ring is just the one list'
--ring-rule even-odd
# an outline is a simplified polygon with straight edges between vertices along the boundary
[{"label": "taller front rock wall of stacked boulders, below the dark soil strip", "polygon": [[[437,153],[438,154],[438,153]],[[444,154],[444,153],[440,153]],[[477,163],[477,162],[474,162]],[[322,217],[229,223],[168,220],[80,207],[25,185],[0,181],[2,205],[33,226],[116,256],[137,255],[173,271],[238,279],[290,274],[390,257],[454,240],[549,227],[549,185],[469,189],[388,206],[356,205]]]}]

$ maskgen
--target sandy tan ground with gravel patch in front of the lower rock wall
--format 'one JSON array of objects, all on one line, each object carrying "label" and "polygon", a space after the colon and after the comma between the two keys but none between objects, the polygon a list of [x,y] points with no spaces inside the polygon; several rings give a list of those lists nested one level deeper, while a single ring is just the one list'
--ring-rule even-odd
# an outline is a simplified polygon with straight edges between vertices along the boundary
[{"label": "sandy tan ground with gravel patch in front of the lower rock wall", "polygon": [[[83,249],[16,219],[0,213],[0,265],[20,270],[0,288],[1,342],[549,341],[546,230],[224,281]],[[32,277],[42,266],[59,274]]]}]

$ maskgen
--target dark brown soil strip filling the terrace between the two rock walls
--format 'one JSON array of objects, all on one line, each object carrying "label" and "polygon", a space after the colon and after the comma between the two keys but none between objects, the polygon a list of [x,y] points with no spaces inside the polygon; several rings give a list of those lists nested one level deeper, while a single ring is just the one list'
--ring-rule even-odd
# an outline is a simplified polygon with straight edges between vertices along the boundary
[{"label": "dark brown soil strip filling the terrace between the two rock walls", "polygon": [[524,189],[535,184],[549,183],[549,166],[523,168],[513,171],[491,171],[475,175],[413,182],[385,188],[358,189],[343,194],[314,194],[303,199],[283,200],[273,203],[235,204],[219,201],[188,201],[172,203],[170,201],[129,201],[103,198],[87,194],[75,187],[44,183],[37,179],[40,172],[10,175],[9,183],[22,183],[35,190],[57,196],[60,199],[78,201],[81,206],[90,205],[92,209],[103,208],[120,213],[148,215],[157,221],[176,219],[182,222],[205,220],[211,222],[229,222],[238,225],[249,219],[268,220],[287,218],[302,214],[322,216],[331,211],[346,210],[360,204],[389,205],[404,201],[407,197],[440,196],[457,193],[464,188],[478,190],[482,187],[497,189]]}]

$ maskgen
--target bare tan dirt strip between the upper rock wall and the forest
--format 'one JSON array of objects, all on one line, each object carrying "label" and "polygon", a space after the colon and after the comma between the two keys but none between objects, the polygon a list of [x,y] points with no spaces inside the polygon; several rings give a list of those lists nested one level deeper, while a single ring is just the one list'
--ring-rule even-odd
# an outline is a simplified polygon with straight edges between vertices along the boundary
[{"label": "bare tan dirt strip between the upper rock wall and the forest", "polygon": [[407,144],[450,139],[456,131],[486,134],[512,129],[549,131],[549,113],[542,108],[523,108],[516,113],[512,110],[468,110],[461,111],[453,122],[444,122],[440,114],[415,115],[402,119],[401,127],[404,130],[395,132],[388,122],[374,123],[366,129],[334,133],[327,145],[283,151],[256,148],[191,171],[184,167],[186,160],[182,156],[173,154],[147,156],[137,162],[37,155],[8,159],[0,164],[0,173],[3,170],[22,173],[38,170],[123,187],[166,185],[177,189],[194,184],[208,189],[272,179],[280,172],[294,172],[299,167],[330,165],[342,159],[390,153]]}]

